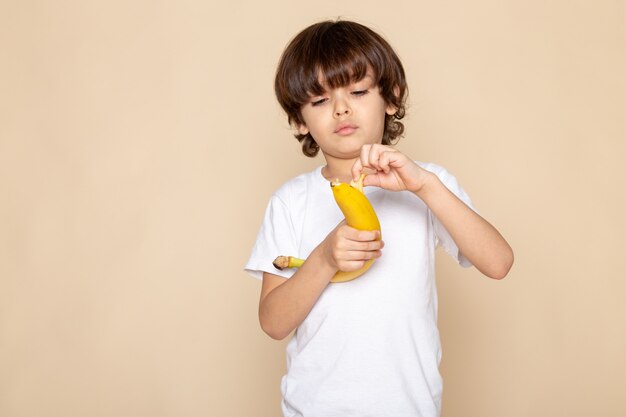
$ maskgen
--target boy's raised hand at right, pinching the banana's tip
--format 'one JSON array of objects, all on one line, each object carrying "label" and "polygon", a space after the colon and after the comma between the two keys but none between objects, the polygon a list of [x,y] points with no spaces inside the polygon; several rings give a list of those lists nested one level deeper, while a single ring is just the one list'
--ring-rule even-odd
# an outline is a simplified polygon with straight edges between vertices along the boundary
[{"label": "boy's raised hand at right, pinching the banana's tip", "polygon": [[373,185],[390,191],[408,190],[419,192],[428,177],[421,168],[402,152],[381,144],[363,145],[361,156],[352,166],[352,178],[359,178],[364,168],[375,170],[367,173],[363,185]]}]

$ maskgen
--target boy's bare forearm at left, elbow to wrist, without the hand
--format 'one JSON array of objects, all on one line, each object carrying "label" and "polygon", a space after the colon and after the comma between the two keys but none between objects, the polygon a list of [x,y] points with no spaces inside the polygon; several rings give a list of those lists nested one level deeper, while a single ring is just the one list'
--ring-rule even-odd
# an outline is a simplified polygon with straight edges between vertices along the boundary
[{"label": "boy's bare forearm at left, elbow to wrist, without the hand", "polygon": [[262,298],[259,320],[263,330],[274,339],[287,337],[304,321],[336,272],[316,248],[291,278]]}]

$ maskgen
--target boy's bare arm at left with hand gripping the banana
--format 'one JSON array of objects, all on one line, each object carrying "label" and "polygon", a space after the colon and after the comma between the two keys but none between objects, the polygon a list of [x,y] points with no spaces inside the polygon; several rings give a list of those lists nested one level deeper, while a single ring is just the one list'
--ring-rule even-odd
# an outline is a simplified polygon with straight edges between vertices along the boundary
[{"label": "boy's bare arm at left with hand gripping the banana", "polygon": [[284,339],[304,321],[330,279],[339,270],[354,271],[381,255],[377,231],[360,231],[342,222],[309,255],[294,275],[263,273],[259,302],[261,328]]}]

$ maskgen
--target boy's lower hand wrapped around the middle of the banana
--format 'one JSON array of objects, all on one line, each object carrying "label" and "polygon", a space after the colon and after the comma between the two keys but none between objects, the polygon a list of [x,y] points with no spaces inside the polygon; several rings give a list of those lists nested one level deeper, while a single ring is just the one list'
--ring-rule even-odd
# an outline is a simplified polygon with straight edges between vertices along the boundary
[{"label": "boy's lower hand wrapped around the middle of the banana", "polygon": [[381,256],[385,244],[376,240],[379,237],[378,230],[358,230],[343,220],[322,242],[322,254],[328,264],[338,271],[356,271],[366,261]]}]

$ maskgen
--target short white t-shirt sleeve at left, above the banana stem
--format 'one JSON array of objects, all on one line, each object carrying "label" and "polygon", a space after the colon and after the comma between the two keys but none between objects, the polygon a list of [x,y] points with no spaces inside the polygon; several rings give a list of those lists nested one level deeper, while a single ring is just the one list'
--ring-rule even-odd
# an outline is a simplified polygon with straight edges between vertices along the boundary
[{"label": "short white t-shirt sleeve at left, above the banana stem", "polygon": [[263,272],[290,278],[293,269],[279,270],[272,262],[277,256],[297,256],[294,226],[286,204],[273,195],[265,210],[263,223],[244,270],[262,279]]}]

